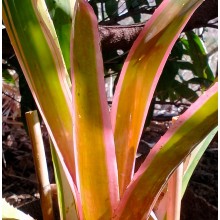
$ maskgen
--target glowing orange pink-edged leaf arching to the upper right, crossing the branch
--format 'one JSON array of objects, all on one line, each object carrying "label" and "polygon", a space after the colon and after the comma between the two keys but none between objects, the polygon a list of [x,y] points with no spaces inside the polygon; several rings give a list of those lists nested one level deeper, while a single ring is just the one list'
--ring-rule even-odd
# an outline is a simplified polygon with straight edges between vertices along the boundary
[{"label": "glowing orange pink-edged leaf arching to the upper right, crossing the branch", "polygon": [[145,118],[165,61],[202,0],[164,0],[135,41],[123,66],[112,104],[120,195],[134,173]]}]

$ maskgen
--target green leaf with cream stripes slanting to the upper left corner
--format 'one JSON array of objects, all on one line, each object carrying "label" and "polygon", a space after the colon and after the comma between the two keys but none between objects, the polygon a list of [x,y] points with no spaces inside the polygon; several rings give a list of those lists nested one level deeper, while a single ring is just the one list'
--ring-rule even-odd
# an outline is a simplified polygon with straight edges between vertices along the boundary
[{"label": "green leaf with cream stripes slanting to the upper left corner", "polygon": [[44,1],[3,1],[3,21],[57,151],[75,180],[71,92]]}]

